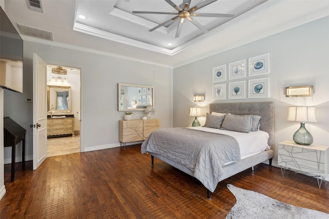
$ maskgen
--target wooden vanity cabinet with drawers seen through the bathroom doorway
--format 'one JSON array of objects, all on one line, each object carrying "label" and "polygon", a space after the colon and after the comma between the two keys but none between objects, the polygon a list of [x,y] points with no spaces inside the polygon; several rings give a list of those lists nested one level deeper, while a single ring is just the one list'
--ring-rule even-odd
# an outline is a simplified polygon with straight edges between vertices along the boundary
[{"label": "wooden vanity cabinet with drawers seen through the bathroom doorway", "polygon": [[74,136],[74,117],[48,118],[47,136],[72,134]]}]

